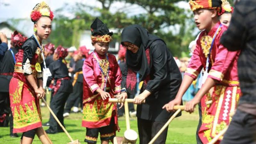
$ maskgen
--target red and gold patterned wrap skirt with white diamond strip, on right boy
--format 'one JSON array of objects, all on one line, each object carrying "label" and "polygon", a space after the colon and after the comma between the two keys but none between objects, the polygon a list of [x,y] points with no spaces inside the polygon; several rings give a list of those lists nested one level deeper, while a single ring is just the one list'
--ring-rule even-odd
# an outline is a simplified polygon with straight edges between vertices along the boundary
[{"label": "red and gold patterned wrap skirt with white diamond strip, on right boy", "polygon": [[[232,119],[229,113],[235,111],[241,95],[239,87],[223,85],[215,85],[212,95],[210,93],[204,95],[201,99],[202,126],[198,132],[203,143],[211,141],[212,138],[229,125]],[[206,105],[205,103],[209,100],[212,100],[212,103]],[[222,138],[220,137],[217,143]]]}]

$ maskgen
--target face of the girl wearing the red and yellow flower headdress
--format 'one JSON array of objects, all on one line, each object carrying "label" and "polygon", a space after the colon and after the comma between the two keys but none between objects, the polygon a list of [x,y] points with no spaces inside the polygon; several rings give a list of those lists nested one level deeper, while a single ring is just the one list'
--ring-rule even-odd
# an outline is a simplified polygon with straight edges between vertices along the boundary
[{"label": "face of the girl wearing the red and yellow flower headdress", "polygon": [[52,20],[49,17],[41,17],[34,27],[37,29],[37,36],[47,39],[52,31]]}]

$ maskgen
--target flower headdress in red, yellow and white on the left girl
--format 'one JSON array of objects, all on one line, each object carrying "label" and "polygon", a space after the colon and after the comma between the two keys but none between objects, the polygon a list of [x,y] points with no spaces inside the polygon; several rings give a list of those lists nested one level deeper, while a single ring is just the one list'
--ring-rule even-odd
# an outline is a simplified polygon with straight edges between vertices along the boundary
[{"label": "flower headdress in red, yellow and white on the left girl", "polygon": [[54,17],[50,7],[44,1],[35,6],[35,8],[31,11],[30,18],[33,22],[35,22],[39,20],[42,16],[47,16],[51,20]]}]

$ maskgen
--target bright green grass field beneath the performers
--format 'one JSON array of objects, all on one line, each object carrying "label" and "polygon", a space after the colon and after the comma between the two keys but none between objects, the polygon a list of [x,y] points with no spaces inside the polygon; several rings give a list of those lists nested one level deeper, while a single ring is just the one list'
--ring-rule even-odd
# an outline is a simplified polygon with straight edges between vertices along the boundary
[{"label": "bright green grass field beneath the performers", "polygon": [[[50,100],[50,99],[48,99]],[[49,111],[46,107],[41,108],[43,123],[47,122],[49,119]],[[65,126],[71,137],[76,140],[80,140],[81,143],[84,142],[84,136],[86,128],[81,127],[81,113],[71,113],[68,118],[64,120]],[[117,136],[123,136],[125,131],[125,120],[124,117],[118,119],[119,126],[121,128],[120,132],[117,132]],[[188,114],[183,112],[182,116],[175,118],[168,128],[168,135],[166,144],[196,144],[196,127],[198,123],[198,112],[196,111],[193,114]],[[137,129],[137,120],[136,117],[130,118],[131,129],[138,132]],[[48,129],[48,127],[44,127]],[[20,143],[19,138],[11,138],[9,136],[10,129],[9,127],[0,127],[0,144],[18,144]],[[18,134],[21,136],[21,133]],[[54,144],[66,144],[69,142],[68,137],[64,132],[58,134],[49,134],[50,139]],[[98,138],[98,143],[100,143],[100,136]],[[35,136],[33,141],[34,144],[41,144],[40,140]],[[137,140],[139,143],[139,139]]]}]

